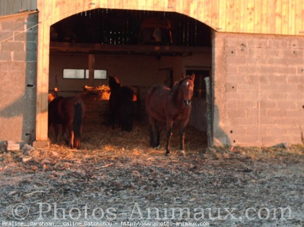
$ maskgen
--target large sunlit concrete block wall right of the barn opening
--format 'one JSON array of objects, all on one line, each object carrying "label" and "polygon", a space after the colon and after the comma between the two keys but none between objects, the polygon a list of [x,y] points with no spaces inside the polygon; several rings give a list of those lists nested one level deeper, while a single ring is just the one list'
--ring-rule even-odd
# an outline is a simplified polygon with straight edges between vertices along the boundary
[{"label": "large sunlit concrete block wall right of the barn opening", "polygon": [[214,33],[216,145],[302,144],[304,37]]}]

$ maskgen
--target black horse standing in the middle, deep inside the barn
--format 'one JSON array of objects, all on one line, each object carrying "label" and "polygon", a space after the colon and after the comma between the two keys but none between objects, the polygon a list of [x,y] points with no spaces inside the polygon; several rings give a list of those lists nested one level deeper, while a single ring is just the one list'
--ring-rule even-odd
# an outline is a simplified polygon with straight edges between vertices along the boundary
[{"label": "black horse standing in the middle, deep inside the barn", "polygon": [[115,123],[118,120],[122,131],[131,131],[135,102],[137,101],[136,93],[132,87],[122,86],[117,76],[109,76],[109,87],[112,128],[115,128]]}]

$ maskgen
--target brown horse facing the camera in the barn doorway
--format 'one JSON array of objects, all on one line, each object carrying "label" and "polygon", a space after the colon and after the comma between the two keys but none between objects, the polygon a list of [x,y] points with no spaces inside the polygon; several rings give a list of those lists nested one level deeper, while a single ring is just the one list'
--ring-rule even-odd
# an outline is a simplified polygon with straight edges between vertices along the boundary
[{"label": "brown horse facing the camera in the barn doorway", "polygon": [[180,152],[185,156],[184,138],[185,126],[188,123],[191,111],[195,75],[185,76],[171,89],[165,85],[150,87],[145,99],[145,108],[150,123],[151,146],[160,146],[160,122],[167,127],[166,155],[170,154],[170,141],[172,138],[173,122],[180,122]]}]

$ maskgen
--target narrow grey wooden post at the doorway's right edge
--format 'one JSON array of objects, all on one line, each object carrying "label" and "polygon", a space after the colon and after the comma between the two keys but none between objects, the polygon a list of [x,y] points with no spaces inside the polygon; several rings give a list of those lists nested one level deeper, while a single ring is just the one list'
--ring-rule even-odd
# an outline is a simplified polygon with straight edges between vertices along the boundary
[{"label": "narrow grey wooden post at the doorway's right edge", "polygon": [[206,118],[207,118],[207,142],[208,148],[213,147],[213,135],[212,135],[212,117],[211,117],[211,93],[209,77],[205,77],[206,83]]}]

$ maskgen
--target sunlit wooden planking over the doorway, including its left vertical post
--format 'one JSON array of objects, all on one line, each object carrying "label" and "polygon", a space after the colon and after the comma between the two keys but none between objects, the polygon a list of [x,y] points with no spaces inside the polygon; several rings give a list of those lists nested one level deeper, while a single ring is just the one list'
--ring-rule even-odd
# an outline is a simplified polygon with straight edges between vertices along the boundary
[{"label": "sunlit wooden planking over the doorway, including its left vertical post", "polygon": [[[1,4],[18,2],[17,0],[0,1]],[[36,140],[38,141],[48,139],[50,26],[73,14],[97,8],[168,11],[191,16],[221,32],[304,35],[304,0],[32,1],[37,1],[37,9],[40,12],[36,109]],[[10,8],[9,5],[3,7]]]}]

